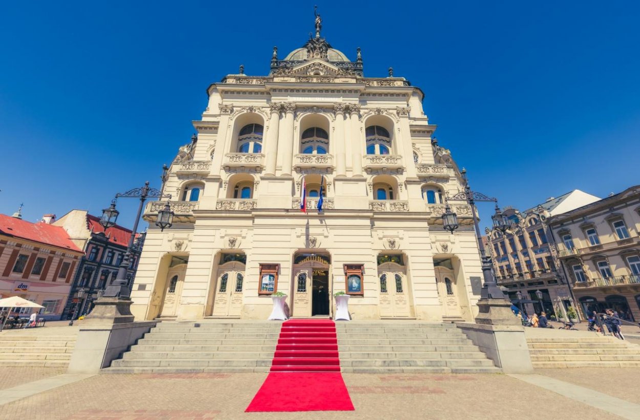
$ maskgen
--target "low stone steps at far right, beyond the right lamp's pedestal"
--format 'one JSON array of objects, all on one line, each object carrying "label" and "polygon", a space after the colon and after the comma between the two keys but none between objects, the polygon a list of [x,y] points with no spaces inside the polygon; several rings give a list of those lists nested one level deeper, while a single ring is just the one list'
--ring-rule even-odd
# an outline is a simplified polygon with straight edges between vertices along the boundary
[{"label": "low stone steps at far right, beyond the right lamp's pedestal", "polygon": [[640,346],[586,331],[529,331],[527,344],[534,368],[640,367]]}]

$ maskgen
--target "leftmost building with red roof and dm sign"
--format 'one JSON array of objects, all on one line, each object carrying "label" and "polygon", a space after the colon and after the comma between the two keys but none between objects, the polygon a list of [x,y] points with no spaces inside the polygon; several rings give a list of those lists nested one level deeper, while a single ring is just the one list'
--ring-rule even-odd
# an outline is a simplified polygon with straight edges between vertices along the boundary
[{"label": "leftmost building with red roof and dm sign", "polygon": [[82,255],[64,229],[0,214],[1,298],[20,296],[44,306],[42,318],[60,319]]}]

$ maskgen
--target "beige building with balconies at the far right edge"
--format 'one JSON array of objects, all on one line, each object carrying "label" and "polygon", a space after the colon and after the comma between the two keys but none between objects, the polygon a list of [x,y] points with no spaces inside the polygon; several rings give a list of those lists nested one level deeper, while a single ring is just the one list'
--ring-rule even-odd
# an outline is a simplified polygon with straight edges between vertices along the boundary
[{"label": "beige building with balconies at the far right edge", "polygon": [[548,221],[580,311],[640,319],[640,186]]}]

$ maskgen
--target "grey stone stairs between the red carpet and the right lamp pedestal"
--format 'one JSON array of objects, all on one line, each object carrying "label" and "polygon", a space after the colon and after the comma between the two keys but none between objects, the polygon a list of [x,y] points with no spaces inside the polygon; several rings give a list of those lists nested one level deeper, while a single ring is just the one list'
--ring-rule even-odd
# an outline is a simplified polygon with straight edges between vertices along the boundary
[{"label": "grey stone stairs between the red carpet and the right lamp pedestal", "polygon": [[452,323],[339,321],[336,330],[342,372],[500,372]]}]

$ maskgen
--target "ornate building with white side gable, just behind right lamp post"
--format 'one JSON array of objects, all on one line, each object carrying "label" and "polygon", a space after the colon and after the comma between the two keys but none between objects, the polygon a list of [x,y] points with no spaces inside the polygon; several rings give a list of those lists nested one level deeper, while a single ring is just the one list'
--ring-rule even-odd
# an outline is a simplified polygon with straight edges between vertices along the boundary
[{"label": "ornate building with white side gable, just behind right lamp post", "polygon": [[[487,230],[488,250],[492,255],[497,283],[508,289],[508,296],[527,314],[545,311],[550,316],[567,318],[569,307],[576,308],[570,280],[558,262],[557,246],[548,230],[548,218],[570,211],[600,198],[574,190],[520,212],[506,207],[511,221],[509,230]],[[536,292],[542,293],[542,300]],[[520,299],[530,302],[516,302]]]}]

